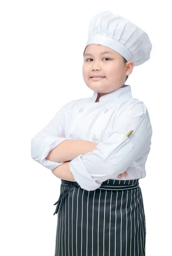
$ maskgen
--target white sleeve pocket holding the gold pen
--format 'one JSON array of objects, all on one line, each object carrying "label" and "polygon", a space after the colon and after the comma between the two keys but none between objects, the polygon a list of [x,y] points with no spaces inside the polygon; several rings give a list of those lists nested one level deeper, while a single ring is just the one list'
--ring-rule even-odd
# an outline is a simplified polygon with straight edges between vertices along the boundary
[{"label": "white sleeve pocket holding the gold pen", "polygon": [[[124,135],[125,134],[123,134],[122,137],[124,137]],[[104,163],[118,165],[125,159],[129,152],[132,151],[132,148],[134,148],[132,142],[127,136],[123,140],[122,137],[121,140],[118,140],[115,143],[111,142],[109,145],[107,145],[105,151],[103,152]]]}]

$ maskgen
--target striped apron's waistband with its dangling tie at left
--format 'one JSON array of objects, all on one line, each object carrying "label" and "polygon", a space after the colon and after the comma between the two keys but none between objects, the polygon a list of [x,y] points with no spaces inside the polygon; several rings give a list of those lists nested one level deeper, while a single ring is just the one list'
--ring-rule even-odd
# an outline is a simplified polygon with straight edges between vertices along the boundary
[{"label": "striped apron's waistband with its dangling tie at left", "polygon": [[[110,181],[113,181],[113,180],[110,180]],[[109,180],[108,180],[108,183],[107,183],[107,181],[103,181],[101,186],[97,189],[126,190],[126,189],[135,189],[139,186],[139,179],[136,179],[136,180],[114,180],[114,181],[116,184],[115,183],[112,184],[112,182],[109,183]],[[120,183],[120,182],[122,182],[122,183]],[[131,182],[131,184],[129,184],[130,182]],[[61,192],[58,201],[54,204],[54,205],[57,204],[57,207],[56,207],[56,210],[53,215],[55,215],[58,212],[62,198],[64,198],[66,195],[68,195],[69,192],[71,192],[72,189],[74,189],[75,187],[80,187],[80,185],[77,182],[69,181],[69,180],[61,179],[61,184],[66,185],[66,186],[65,186],[63,192]]]}]

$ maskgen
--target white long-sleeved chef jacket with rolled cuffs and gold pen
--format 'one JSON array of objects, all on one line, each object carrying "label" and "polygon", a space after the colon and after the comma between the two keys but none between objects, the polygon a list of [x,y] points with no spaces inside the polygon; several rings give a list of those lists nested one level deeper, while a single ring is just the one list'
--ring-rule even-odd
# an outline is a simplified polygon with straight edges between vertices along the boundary
[{"label": "white long-sleeved chef jacket with rolled cuffs and gold pen", "polygon": [[[70,171],[82,189],[95,190],[108,179],[144,178],[152,137],[145,104],[132,97],[127,84],[101,96],[99,102],[96,99],[94,91],[90,98],[63,105],[32,138],[32,159],[53,170],[64,162],[46,160],[49,151],[64,140],[88,140],[98,143],[95,149],[69,162]],[[131,130],[132,134],[123,139]],[[57,137],[62,134],[65,138]],[[117,176],[125,171],[128,175],[119,179]]]}]

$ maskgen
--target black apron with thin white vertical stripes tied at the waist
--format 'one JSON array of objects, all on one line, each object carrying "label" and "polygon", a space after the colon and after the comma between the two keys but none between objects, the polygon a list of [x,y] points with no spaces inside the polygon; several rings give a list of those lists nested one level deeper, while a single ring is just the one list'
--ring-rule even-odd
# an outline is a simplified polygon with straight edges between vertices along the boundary
[{"label": "black apron with thin white vertical stripes tied at the waist", "polygon": [[139,179],[106,180],[87,191],[61,179],[55,256],[145,256]]}]

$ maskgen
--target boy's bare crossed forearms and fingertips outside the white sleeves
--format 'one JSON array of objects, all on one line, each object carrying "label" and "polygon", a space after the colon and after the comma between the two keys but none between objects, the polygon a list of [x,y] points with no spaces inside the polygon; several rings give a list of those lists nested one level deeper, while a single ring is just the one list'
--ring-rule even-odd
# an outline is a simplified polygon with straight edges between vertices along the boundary
[{"label": "boy's bare crossed forearms and fingertips outside the white sleeves", "polygon": [[[59,136],[61,137],[61,136]],[[64,140],[56,148],[51,150],[46,159],[54,162],[65,162],[52,170],[52,173],[63,180],[74,181],[74,176],[69,168],[69,162],[80,154],[93,151],[98,143],[88,140]],[[125,174],[124,172],[123,174]],[[122,175],[118,175],[118,178]]]}]

